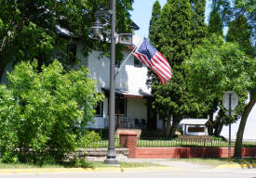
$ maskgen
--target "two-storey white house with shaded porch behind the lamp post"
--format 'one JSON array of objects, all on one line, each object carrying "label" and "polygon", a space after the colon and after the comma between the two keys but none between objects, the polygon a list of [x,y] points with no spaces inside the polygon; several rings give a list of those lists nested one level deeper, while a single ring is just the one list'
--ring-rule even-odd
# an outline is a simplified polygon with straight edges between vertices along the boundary
[{"label": "two-storey white house with shaded porch behind the lamp post", "polygon": [[[134,44],[141,39],[133,39]],[[77,54],[82,59],[82,64],[88,67],[89,76],[97,81],[99,92],[105,95],[104,101],[97,108],[97,115],[89,127],[103,129],[108,127],[109,114],[109,89],[110,89],[110,59],[101,57],[100,52],[92,51],[88,57],[80,55],[82,44],[77,45]],[[131,52],[130,46],[123,52],[124,58]],[[116,67],[116,70],[119,68]],[[146,86],[147,68],[133,57],[128,57],[124,67],[119,71],[115,79],[115,113],[119,110],[119,126],[135,128],[147,122],[147,100],[151,91]]]}]

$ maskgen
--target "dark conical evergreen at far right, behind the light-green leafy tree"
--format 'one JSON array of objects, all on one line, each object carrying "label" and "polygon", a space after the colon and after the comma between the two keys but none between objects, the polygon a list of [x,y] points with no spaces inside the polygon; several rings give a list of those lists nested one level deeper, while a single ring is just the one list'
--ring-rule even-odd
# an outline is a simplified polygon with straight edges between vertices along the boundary
[{"label": "dark conical evergreen at far right, behind the light-green leafy tree", "polygon": [[244,52],[252,56],[253,49],[250,44],[250,27],[245,16],[241,15],[230,22],[226,35],[227,42],[237,42]]}]

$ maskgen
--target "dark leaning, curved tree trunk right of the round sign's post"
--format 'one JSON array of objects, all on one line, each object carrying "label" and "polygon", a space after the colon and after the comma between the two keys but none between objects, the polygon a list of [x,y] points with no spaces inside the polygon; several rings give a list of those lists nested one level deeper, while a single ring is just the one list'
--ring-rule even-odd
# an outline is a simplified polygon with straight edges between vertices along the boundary
[{"label": "dark leaning, curved tree trunk right of the round sign's post", "polygon": [[249,100],[249,104],[246,106],[246,108],[243,111],[242,118],[239,124],[238,132],[236,134],[236,146],[235,146],[235,157],[241,158],[241,150],[242,150],[242,141],[243,141],[243,135],[244,130],[246,127],[246,122],[249,116],[249,112],[253,108],[254,104],[256,102],[256,88],[254,88],[251,92],[251,97]]}]

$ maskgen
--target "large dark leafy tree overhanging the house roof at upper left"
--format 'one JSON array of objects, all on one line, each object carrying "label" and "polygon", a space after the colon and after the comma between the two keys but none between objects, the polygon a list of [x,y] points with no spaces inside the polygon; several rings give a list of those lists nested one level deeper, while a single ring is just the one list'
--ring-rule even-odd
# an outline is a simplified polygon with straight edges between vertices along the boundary
[{"label": "large dark leafy tree overhanging the house roof at upper left", "polygon": [[[50,64],[51,57],[67,63],[66,44],[79,38],[86,56],[92,49],[104,53],[109,44],[93,40],[89,27],[95,12],[108,8],[108,1],[1,1],[0,2],[0,79],[7,63],[38,60],[38,68]],[[129,10],[133,0],[116,1],[116,32],[131,32]],[[107,18],[107,17],[106,17]],[[72,32],[73,38],[61,36],[56,29],[62,27]],[[110,28],[107,26],[106,28]]]}]

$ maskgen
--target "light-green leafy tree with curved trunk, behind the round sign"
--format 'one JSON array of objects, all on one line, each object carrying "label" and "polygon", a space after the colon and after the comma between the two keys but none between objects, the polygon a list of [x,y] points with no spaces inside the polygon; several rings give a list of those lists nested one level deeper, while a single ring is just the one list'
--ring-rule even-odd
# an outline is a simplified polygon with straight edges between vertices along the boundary
[{"label": "light-green leafy tree with curved trunk, behind the round sign", "polygon": [[241,141],[249,112],[256,102],[256,58],[249,58],[238,44],[223,43],[218,36],[211,36],[205,44],[197,47],[190,59],[183,63],[188,72],[190,86],[201,97],[214,92],[219,98],[225,91],[238,95],[250,91],[249,103],[241,113],[236,135],[235,156],[241,157]]}]

